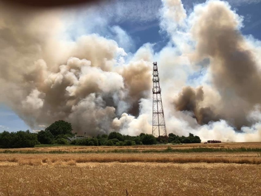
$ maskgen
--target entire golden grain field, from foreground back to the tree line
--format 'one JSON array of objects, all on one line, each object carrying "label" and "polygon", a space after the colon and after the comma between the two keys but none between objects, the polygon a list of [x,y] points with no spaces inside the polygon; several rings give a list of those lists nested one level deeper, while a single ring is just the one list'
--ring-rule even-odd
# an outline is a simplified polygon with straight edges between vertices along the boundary
[{"label": "entire golden grain field, from foreground back to the tree line", "polygon": [[[209,147],[261,148],[261,143],[208,144],[206,148]],[[138,149],[138,153],[105,150],[122,148]],[[105,152],[74,153],[93,149]],[[260,153],[142,153],[142,149],[159,150],[166,146],[62,146],[19,149],[26,151],[24,154],[0,153],[0,196],[261,195]],[[53,150],[68,153],[50,153]]]}]

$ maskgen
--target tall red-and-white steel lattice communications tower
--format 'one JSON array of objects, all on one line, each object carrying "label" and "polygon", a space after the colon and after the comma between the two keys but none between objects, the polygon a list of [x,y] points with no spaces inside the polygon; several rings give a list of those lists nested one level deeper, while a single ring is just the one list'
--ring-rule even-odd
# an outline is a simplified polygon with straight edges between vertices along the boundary
[{"label": "tall red-and-white steel lattice communications tower", "polygon": [[[155,137],[165,137],[167,139],[167,130],[161,100],[161,87],[158,73],[157,62],[153,62],[153,112],[152,112],[152,135]],[[158,135],[157,133],[158,132]],[[161,135],[162,134],[162,135]]]}]

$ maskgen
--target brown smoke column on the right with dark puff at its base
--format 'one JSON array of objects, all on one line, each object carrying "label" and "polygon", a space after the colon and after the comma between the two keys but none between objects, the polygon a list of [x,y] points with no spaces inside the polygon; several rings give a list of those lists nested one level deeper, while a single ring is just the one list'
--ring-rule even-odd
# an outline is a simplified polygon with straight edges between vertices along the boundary
[{"label": "brown smoke column on the right with dark puff at its base", "polygon": [[[198,94],[202,88],[183,88],[175,101],[177,110],[189,110],[199,124],[225,119],[237,129],[251,125],[247,114],[260,103],[260,65],[252,48],[239,31],[240,18],[220,1],[210,1],[195,8],[191,33],[196,41],[192,60],[210,59],[210,75],[214,88],[221,96],[215,110]],[[201,107],[200,104],[210,107]]]}]

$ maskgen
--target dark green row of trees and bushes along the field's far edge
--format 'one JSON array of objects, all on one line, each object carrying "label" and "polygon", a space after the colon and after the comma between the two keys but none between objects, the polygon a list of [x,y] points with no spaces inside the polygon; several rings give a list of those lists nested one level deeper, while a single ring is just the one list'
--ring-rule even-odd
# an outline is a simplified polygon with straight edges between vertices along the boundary
[{"label": "dark green row of trees and bushes along the field's far edge", "polygon": [[102,134],[96,137],[75,139],[68,143],[67,137],[73,138],[76,133],[72,132],[72,126],[66,121],[55,121],[45,130],[38,133],[27,131],[0,133],[0,148],[29,148],[37,144],[71,144],[84,146],[132,146],[132,145],[152,145],[161,143],[188,144],[200,143],[199,136],[189,133],[189,136],[177,136],[168,134],[168,141],[164,138],[155,138],[151,134],[141,133],[138,136],[122,135],[118,132],[111,132],[108,135]]}]

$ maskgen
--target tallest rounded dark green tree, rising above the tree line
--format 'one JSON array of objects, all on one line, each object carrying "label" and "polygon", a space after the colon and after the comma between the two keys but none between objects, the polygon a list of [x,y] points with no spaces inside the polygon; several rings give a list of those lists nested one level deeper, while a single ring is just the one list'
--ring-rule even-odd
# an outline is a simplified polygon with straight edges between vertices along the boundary
[{"label": "tallest rounded dark green tree, rising above the tree line", "polygon": [[72,125],[66,121],[55,121],[49,127],[45,129],[45,131],[50,131],[53,136],[58,135],[68,135],[70,137],[74,136],[72,133]]}]

